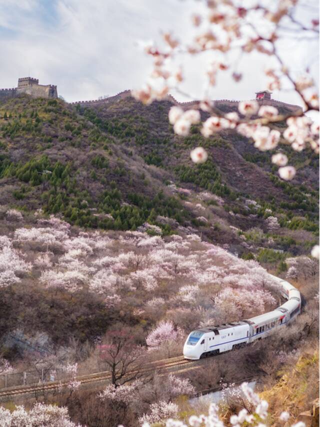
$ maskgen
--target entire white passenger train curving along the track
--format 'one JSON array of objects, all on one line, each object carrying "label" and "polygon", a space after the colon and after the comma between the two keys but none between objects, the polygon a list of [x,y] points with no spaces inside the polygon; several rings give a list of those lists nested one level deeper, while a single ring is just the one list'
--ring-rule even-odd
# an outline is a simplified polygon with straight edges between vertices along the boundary
[{"label": "entire white passenger train curving along the track", "polygon": [[272,277],[279,284],[281,295],[287,299],[284,304],[247,320],[192,330],[183,346],[184,358],[199,359],[238,348],[264,338],[269,331],[287,324],[297,316],[301,310],[300,292],[289,282]]}]

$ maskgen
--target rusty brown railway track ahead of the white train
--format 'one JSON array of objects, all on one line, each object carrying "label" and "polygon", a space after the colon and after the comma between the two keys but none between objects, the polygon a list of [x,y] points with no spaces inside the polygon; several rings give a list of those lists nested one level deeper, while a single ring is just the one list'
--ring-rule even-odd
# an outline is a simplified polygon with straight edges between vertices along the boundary
[{"label": "rusty brown railway track ahead of the white train", "polygon": [[[141,369],[141,372],[167,370],[167,369],[170,369],[171,367],[179,367],[179,366],[184,367],[184,365],[188,365],[191,363],[194,363],[194,361],[186,360],[183,356],[170,357],[168,359],[156,360],[148,363],[148,365],[144,369]],[[76,380],[79,381],[81,384],[108,380],[110,378],[111,378],[111,375],[108,371],[95,372],[87,375],[76,376]],[[68,380],[43,382],[41,384],[32,384],[32,385],[19,385],[17,387],[10,387],[10,388],[0,390],[0,397],[14,396],[17,394],[26,394],[26,393],[36,392],[36,391],[43,391],[43,390],[54,390],[57,387],[66,386],[67,384],[68,384]]]}]

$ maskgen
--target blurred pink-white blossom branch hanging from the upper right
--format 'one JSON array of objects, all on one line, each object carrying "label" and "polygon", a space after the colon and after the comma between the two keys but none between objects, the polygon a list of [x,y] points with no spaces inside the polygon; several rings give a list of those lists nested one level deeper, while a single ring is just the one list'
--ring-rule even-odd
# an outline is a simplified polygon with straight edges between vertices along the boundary
[{"label": "blurred pink-white blossom branch hanging from the upper right", "polygon": [[[192,24],[199,28],[191,44],[183,45],[171,33],[162,34],[164,46],[159,48],[155,44],[145,45],[145,53],[153,58],[154,68],[150,78],[140,90],[133,90],[132,95],[145,104],[153,100],[164,99],[168,91],[175,89],[178,93],[187,94],[179,87],[184,81],[181,67],[173,68],[170,61],[180,54],[194,56],[203,52],[211,51],[217,57],[227,52],[238,49],[241,53],[257,51],[261,54],[273,57],[279,64],[280,70],[266,69],[265,74],[269,77],[267,88],[269,90],[281,88],[281,78],[285,77],[292,84],[295,92],[301,97],[304,109],[298,109],[287,114],[279,114],[278,110],[271,105],[259,105],[256,101],[242,101],[238,104],[238,111],[242,118],[235,113],[223,114],[218,105],[215,105],[206,94],[198,103],[193,103],[192,109],[184,111],[178,106],[171,107],[169,111],[169,122],[177,135],[187,136],[191,125],[201,122],[200,110],[210,116],[202,122],[201,133],[209,137],[215,132],[225,129],[234,129],[238,133],[252,138],[254,146],[262,151],[274,149],[280,142],[290,143],[294,150],[301,151],[309,146],[315,153],[319,152],[319,126],[305,116],[311,110],[319,109],[319,101],[314,89],[313,79],[306,73],[298,78],[293,78],[289,69],[285,66],[283,59],[276,48],[276,41],[281,38],[282,22],[289,20],[294,28],[298,26],[300,31],[318,33],[319,22],[312,19],[310,27],[298,22],[294,17],[297,7],[295,0],[285,2],[278,1],[272,8],[258,3],[252,7],[240,7],[235,0],[229,1],[206,1],[206,14],[193,14]],[[263,34],[257,30],[255,21],[265,23],[259,25]],[[201,25],[208,24],[209,28],[201,29]],[[235,66],[237,61],[235,61]],[[216,83],[216,76],[230,68],[230,65],[222,60],[214,60],[205,71],[208,88]],[[242,74],[234,71],[232,77],[235,81],[242,78]],[[312,90],[311,94],[308,94]],[[189,96],[190,98],[190,96]],[[256,114],[258,117],[256,117]],[[281,135],[279,130],[270,129],[268,125],[286,120],[287,128]],[[282,141],[283,141],[282,139]],[[206,161],[208,155],[202,147],[196,147],[190,153],[192,161],[201,163]],[[293,166],[286,165],[285,156],[272,157],[272,161],[280,166],[279,175],[282,179],[292,179],[295,175]]]}]

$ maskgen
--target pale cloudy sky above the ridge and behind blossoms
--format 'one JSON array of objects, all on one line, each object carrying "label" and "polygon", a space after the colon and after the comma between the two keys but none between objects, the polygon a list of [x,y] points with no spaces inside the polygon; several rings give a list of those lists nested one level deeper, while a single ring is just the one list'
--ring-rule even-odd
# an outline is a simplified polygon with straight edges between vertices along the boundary
[{"label": "pale cloudy sky above the ridge and behind blossoms", "polygon": [[[317,18],[316,1],[305,3],[304,20]],[[196,0],[0,0],[0,87],[16,86],[18,77],[30,75],[40,84],[56,84],[58,94],[67,101],[138,88],[151,69],[139,41],[157,40],[166,30],[187,40],[192,36],[190,15],[201,10],[201,1]],[[317,79],[316,41],[290,36],[280,48],[294,72],[310,64]],[[182,63],[187,76],[184,89],[194,97],[203,94],[201,75],[210,61],[212,56]],[[252,98],[265,88],[263,69],[270,64],[266,56],[242,57],[243,80],[235,84],[224,73],[212,98]],[[300,103],[291,91],[276,91],[272,96]]]}]

